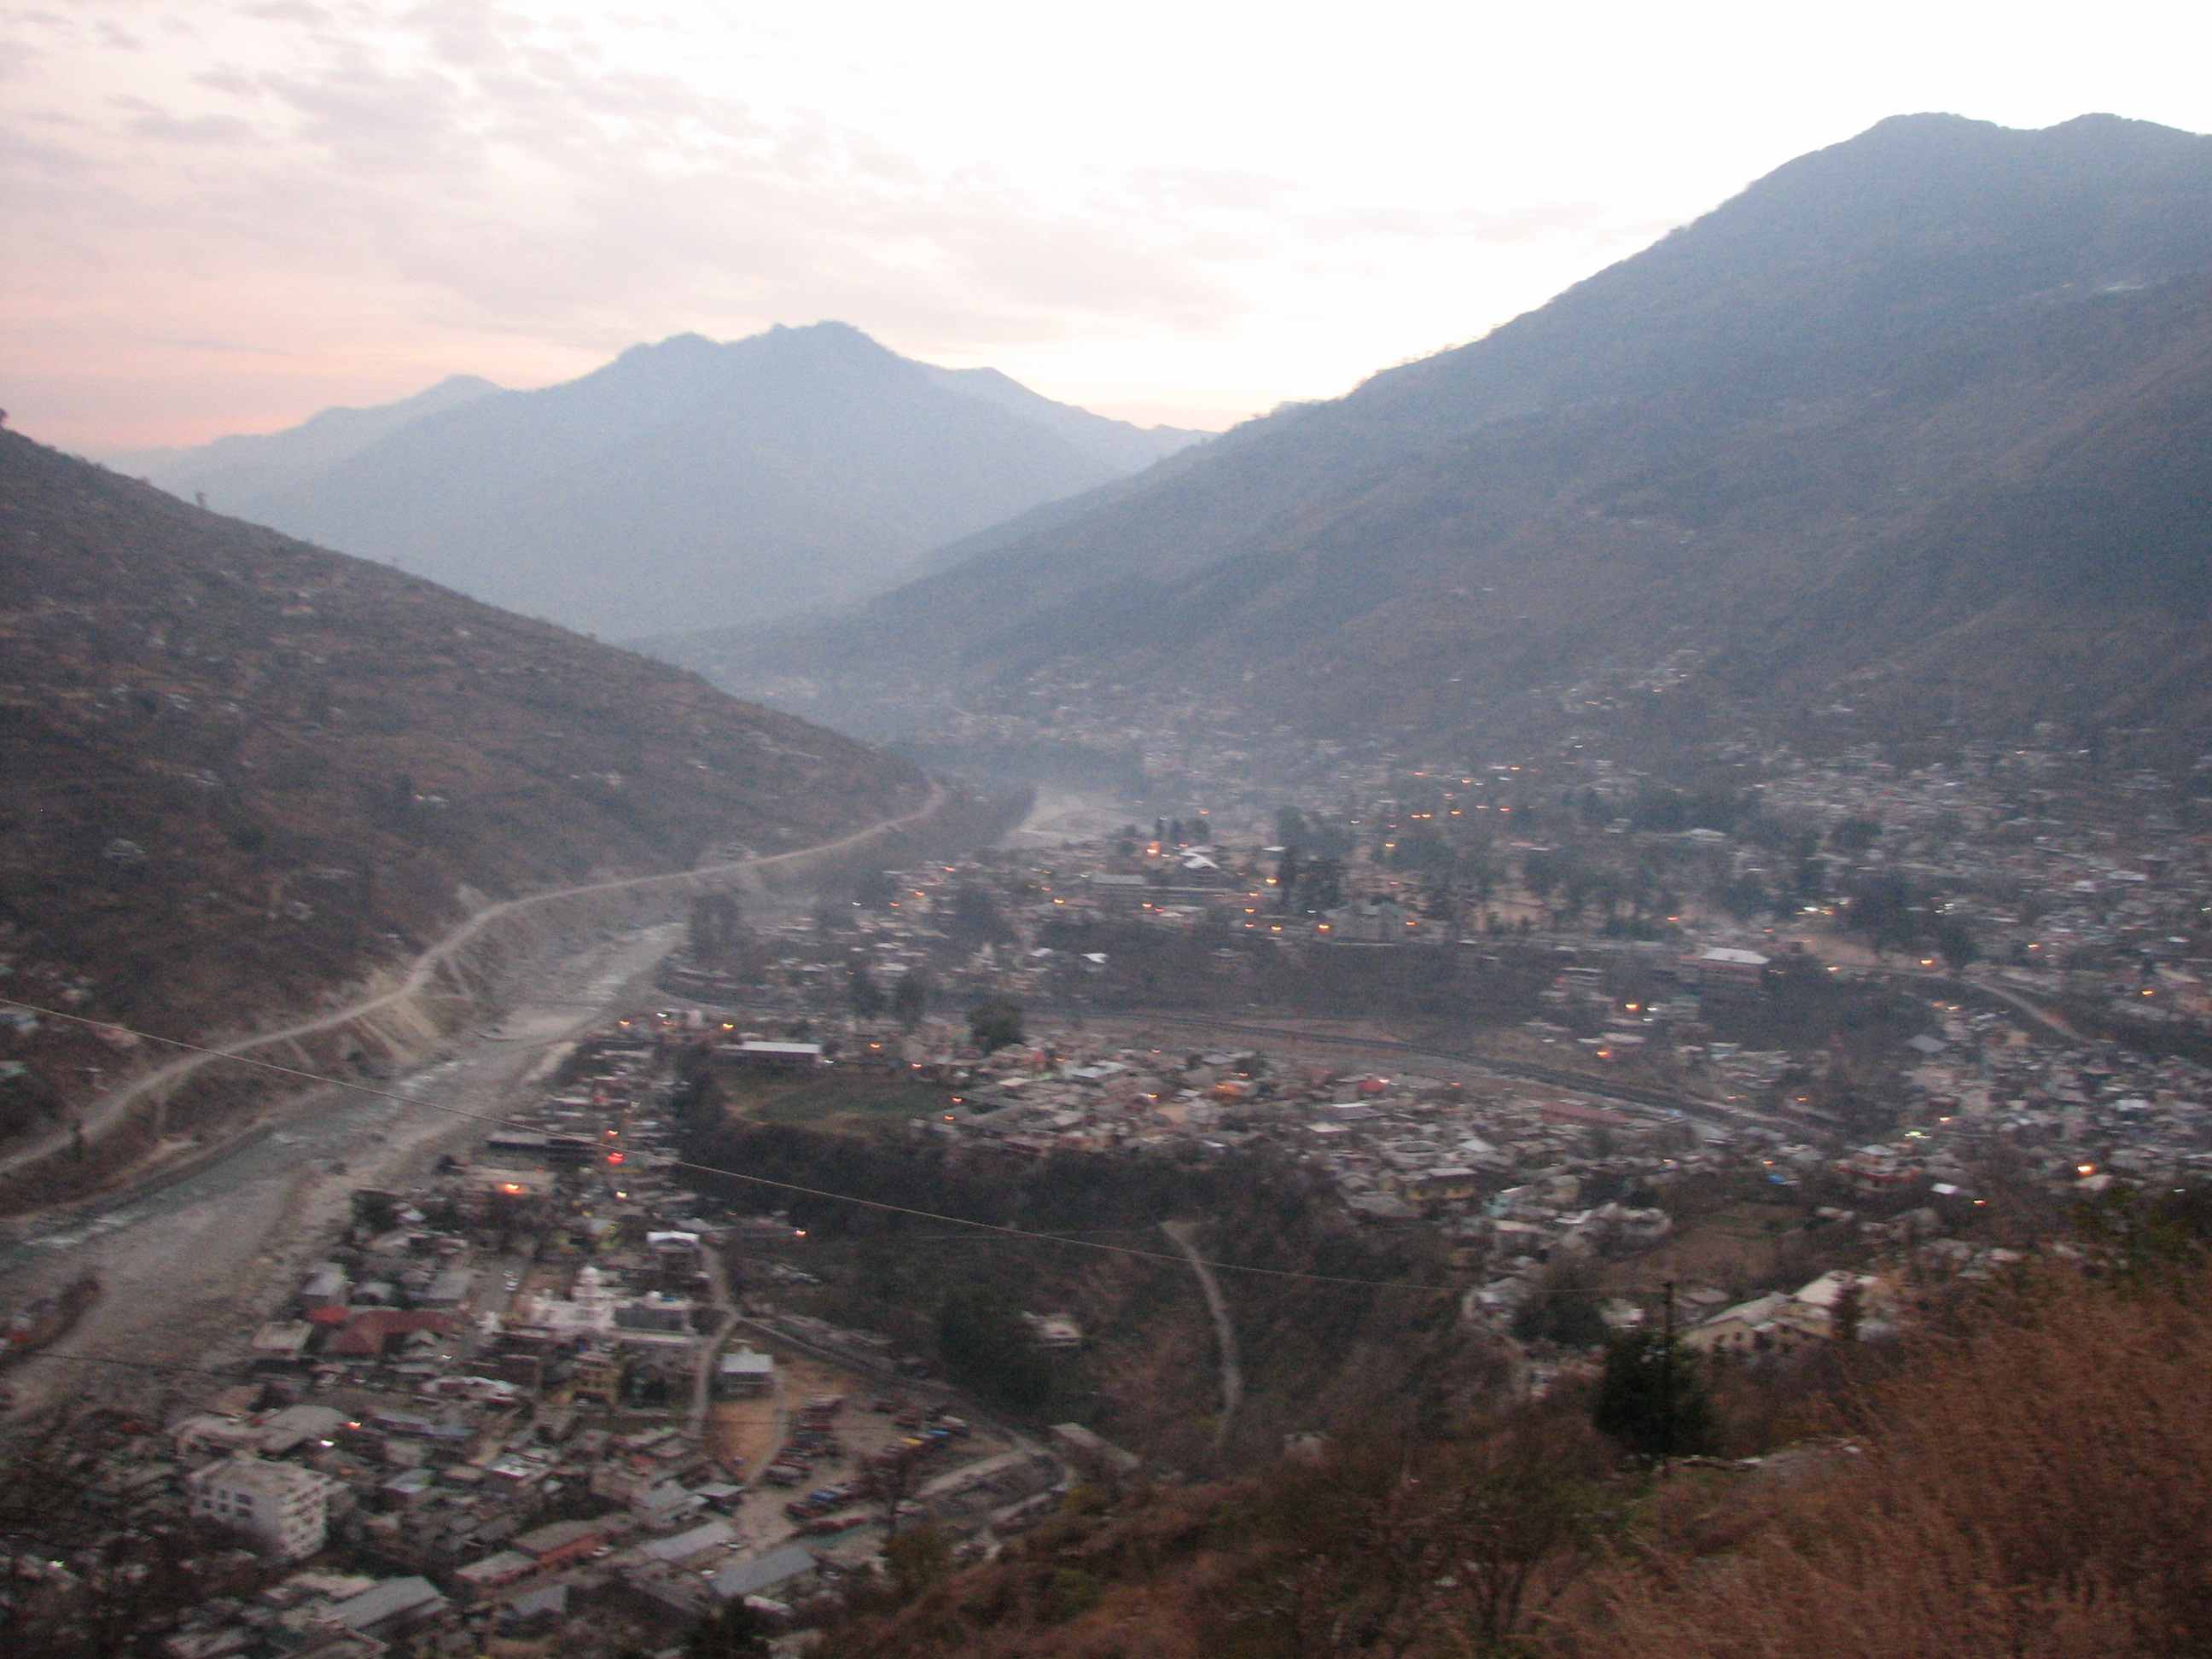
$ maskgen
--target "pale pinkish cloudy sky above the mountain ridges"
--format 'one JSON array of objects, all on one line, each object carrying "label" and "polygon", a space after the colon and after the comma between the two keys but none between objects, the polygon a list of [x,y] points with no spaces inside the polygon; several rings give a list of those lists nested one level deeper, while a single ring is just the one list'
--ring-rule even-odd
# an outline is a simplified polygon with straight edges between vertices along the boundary
[{"label": "pale pinkish cloudy sky above the mountain ridges", "polygon": [[1228,427],[1885,115],[2212,128],[2212,7],[0,0],[0,405],[84,453],[854,323]]}]

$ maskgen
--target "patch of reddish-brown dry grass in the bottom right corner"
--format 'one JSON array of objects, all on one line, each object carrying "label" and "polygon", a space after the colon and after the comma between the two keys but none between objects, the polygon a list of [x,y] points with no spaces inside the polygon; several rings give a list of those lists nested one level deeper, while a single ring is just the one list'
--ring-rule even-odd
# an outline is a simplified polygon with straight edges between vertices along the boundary
[{"label": "patch of reddish-brown dry grass in the bottom right corner", "polygon": [[[2088,1659],[2212,1646],[2203,1285],[2015,1287],[1849,1411],[1796,1484],[1655,1515],[1588,1659]],[[1679,1509],[1679,1506],[1677,1506]]]}]

